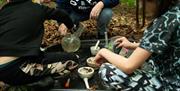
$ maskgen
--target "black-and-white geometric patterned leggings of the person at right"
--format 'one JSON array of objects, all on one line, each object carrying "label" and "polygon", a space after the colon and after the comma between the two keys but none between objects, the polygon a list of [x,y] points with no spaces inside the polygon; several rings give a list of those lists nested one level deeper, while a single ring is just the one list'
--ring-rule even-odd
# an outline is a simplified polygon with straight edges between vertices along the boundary
[{"label": "black-and-white geometric patterned leggings of the person at right", "polygon": [[125,91],[156,91],[161,90],[162,84],[157,77],[149,77],[144,72],[136,71],[128,76],[112,64],[105,63],[101,66],[100,78],[106,87]]}]

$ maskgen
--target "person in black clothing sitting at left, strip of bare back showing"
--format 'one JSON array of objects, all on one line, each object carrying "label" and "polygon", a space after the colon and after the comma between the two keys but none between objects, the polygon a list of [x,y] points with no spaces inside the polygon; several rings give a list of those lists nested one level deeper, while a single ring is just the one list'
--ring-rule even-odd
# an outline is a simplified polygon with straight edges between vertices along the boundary
[{"label": "person in black clothing sitting at left, strip of bare back showing", "polygon": [[[72,20],[67,13],[35,4],[31,0],[7,0],[6,4],[1,7],[0,81],[9,85],[36,82],[50,73],[58,71],[58,67],[55,66],[53,72],[52,69],[50,69],[51,72],[42,70],[39,75],[30,75],[24,72],[29,69],[21,69],[26,67],[26,64],[39,63],[43,65],[78,58],[75,54],[70,53],[40,51],[44,34],[43,22],[46,19],[64,23],[69,29],[73,27]],[[60,32],[64,33],[65,31]]]}]

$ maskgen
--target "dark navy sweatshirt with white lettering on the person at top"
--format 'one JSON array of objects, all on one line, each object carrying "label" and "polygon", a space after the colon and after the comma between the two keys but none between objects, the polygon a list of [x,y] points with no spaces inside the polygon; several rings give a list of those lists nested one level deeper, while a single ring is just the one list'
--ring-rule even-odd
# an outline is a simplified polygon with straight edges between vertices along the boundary
[{"label": "dark navy sweatshirt with white lettering on the person at top", "polygon": [[[92,8],[100,0],[56,0],[58,7],[66,11],[75,11],[81,15],[90,14]],[[119,0],[102,0],[105,8],[112,8],[119,4]]]}]

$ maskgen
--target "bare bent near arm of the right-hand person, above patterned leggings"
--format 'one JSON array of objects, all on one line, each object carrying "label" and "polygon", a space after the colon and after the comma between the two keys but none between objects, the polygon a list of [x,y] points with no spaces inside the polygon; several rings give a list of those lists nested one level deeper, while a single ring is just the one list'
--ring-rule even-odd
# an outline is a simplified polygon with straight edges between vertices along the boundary
[{"label": "bare bent near arm of the right-hand person, above patterned leggings", "polygon": [[95,61],[98,63],[102,58],[106,59],[111,64],[117,66],[126,74],[131,74],[139,68],[149,57],[151,52],[136,48],[133,54],[129,58],[125,58],[121,55],[115,54],[108,49],[101,49],[95,57]]}]

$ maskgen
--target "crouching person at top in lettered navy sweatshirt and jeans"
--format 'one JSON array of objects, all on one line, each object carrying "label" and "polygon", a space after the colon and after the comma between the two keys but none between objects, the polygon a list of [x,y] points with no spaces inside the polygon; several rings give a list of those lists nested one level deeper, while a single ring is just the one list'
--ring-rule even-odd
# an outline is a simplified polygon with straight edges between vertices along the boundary
[{"label": "crouching person at top in lettered navy sweatshirt and jeans", "polygon": [[118,5],[119,0],[57,0],[57,3],[58,8],[70,14],[76,25],[88,19],[96,20],[98,38],[104,38],[112,18],[112,7]]}]

